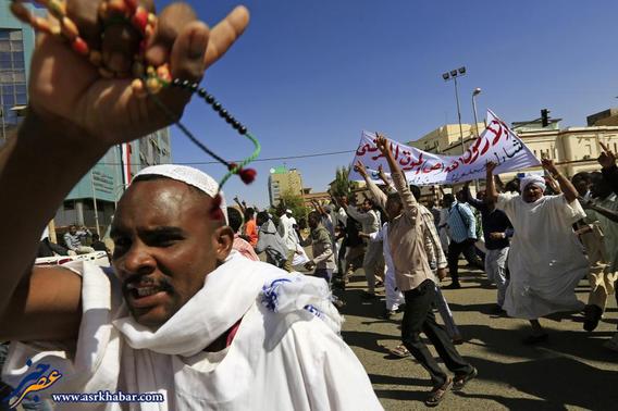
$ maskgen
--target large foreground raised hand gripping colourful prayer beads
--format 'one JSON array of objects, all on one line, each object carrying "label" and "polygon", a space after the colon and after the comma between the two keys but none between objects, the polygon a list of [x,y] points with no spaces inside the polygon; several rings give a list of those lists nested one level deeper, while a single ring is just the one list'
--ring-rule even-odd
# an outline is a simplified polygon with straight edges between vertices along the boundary
[{"label": "large foreground raised hand gripping colourful prayer beads", "polygon": [[[99,2],[88,3],[96,7],[69,2],[67,16],[88,42],[101,41],[96,28]],[[248,21],[248,11],[239,7],[209,30],[186,3],[172,3],[159,15],[157,33],[147,46],[146,58],[156,65],[169,61],[173,77],[199,82],[206,67],[225,53]],[[138,39],[112,36],[108,29],[102,42],[103,59],[111,66],[123,66],[123,54],[135,49]],[[41,34],[32,61],[28,115],[46,125],[57,125],[65,135],[90,138],[92,145],[100,142],[102,147],[169,125],[172,119],[163,115],[152,99],[138,99],[131,82],[131,78],[101,77],[98,70],[67,43]],[[190,96],[183,90],[164,89],[158,97],[180,116]]]}]

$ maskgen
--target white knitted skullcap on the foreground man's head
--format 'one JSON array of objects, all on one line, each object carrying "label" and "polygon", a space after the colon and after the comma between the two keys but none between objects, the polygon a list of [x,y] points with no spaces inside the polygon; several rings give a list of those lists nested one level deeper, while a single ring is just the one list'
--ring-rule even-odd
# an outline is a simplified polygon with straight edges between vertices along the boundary
[{"label": "white knitted skullcap on the foreground man's head", "polygon": [[[187,165],[175,165],[175,164],[159,164],[151,165],[141,170],[135,175],[135,178],[143,175],[160,175],[163,177],[175,179],[176,182],[183,182],[197,188],[198,190],[207,194],[208,196],[214,198],[219,191],[219,183],[214,180],[211,176],[202,171],[199,171]],[[221,196],[221,211],[227,223],[227,208],[225,204],[225,196],[223,191],[219,191]]]}]

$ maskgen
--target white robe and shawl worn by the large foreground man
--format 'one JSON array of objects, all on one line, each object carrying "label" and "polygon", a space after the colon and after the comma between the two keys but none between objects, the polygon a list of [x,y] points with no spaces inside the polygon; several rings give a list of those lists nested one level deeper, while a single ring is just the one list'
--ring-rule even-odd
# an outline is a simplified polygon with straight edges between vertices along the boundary
[{"label": "white robe and shawl worn by the large foreground man", "polygon": [[[338,335],[341,316],[321,278],[288,274],[233,252],[205,286],[161,327],[136,323],[118,279],[89,263],[83,275],[83,316],[73,349],[13,341],[3,378],[17,386],[39,364],[62,377],[52,393],[158,393],[143,410],[382,409],[358,359]],[[240,325],[232,344],[205,352]],[[32,368],[24,364],[33,360]],[[59,409],[120,410],[119,403],[57,403]]]}]

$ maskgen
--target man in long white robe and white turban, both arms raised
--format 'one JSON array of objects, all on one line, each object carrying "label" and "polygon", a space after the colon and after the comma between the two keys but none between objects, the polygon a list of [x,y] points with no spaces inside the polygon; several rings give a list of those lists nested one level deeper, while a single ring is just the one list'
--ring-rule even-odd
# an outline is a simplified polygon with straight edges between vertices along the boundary
[{"label": "man in long white robe and white turban, both arms raised", "polygon": [[493,176],[496,164],[487,163],[486,167],[487,200],[504,210],[515,229],[504,309],[510,316],[530,321],[532,334],[523,340],[526,344],[547,339],[540,317],[583,309],[574,288],[588,273],[588,261],[572,229],[572,224],[585,216],[578,192],[551,160],[542,162],[563,194],[544,196],[543,176],[528,175],[520,182],[521,196],[498,195]]}]

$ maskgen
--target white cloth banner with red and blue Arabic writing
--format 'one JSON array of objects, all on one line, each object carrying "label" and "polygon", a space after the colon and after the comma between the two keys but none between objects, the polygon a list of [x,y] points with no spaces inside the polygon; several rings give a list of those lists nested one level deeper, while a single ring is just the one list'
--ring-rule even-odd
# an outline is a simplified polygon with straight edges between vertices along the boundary
[{"label": "white cloth banner with red and blue Arabic writing", "polygon": [[[379,179],[379,165],[382,165],[384,172],[390,174],[386,159],[375,147],[374,139],[374,133],[362,132],[349,174],[350,180],[363,180],[360,174],[354,171],[354,164],[358,160],[364,164],[372,179]],[[408,182],[417,186],[484,179],[487,161],[498,164],[495,174],[520,171],[541,164],[521,139],[491,110],[487,110],[487,128],[461,155],[440,155],[397,141],[391,141],[391,151],[395,161],[399,163]]]}]

